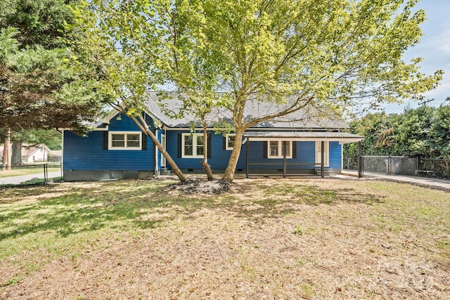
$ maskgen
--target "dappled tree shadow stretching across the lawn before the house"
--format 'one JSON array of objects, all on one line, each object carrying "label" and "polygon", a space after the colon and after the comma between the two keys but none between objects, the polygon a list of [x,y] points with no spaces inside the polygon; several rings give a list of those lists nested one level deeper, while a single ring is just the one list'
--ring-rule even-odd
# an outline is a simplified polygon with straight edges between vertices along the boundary
[{"label": "dappled tree shadow stretching across the lawn before the house", "polygon": [[[314,185],[244,183],[237,191],[220,195],[169,193],[167,185],[167,182],[120,181],[72,188],[56,185],[11,190],[14,195],[7,195],[10,200],[0,202],[0,240],[49,230],[66,237],[105,227],[155,228],[180,216],[195,219],[196,213],[204,209],[260,222],[293,214],[304,204],[383,202],[379,196],[354,189],[324,189]],[[22,202],[23,197],[36,200]]]}]

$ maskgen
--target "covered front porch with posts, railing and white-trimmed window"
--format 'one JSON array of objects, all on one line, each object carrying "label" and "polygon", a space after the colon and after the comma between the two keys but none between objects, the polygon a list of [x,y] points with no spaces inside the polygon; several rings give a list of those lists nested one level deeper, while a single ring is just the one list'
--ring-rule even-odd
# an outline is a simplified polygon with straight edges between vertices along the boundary
[{"label": "covered front porch with posts, railing and white-trimmed window", "polygon": [[[352,133],[333,131],[246,132],[243,140],[245,176],[325,178],[335,174],[335,170],[340,173],[342,144],[361,143],[363,138]],[[264,159],[257,158],[261,157],[261,148]]]}]

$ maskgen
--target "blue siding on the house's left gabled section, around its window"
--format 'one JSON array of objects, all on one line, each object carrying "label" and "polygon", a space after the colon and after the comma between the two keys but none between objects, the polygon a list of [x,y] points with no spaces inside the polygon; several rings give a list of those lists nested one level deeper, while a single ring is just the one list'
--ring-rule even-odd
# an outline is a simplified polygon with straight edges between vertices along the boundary
[{"label": "blue siding on the house's left gabled section, around its window", "polygon": [[[153,124],[153,121],[148,121]],[[110,131],[140,131],[139,127],[122,115],[111,119]],[[153,142],[147,138],[147,150],[103,150],[103,132],[91,131],[77,136],[64,131],[64,170],[151,170],[153,171]]]}]

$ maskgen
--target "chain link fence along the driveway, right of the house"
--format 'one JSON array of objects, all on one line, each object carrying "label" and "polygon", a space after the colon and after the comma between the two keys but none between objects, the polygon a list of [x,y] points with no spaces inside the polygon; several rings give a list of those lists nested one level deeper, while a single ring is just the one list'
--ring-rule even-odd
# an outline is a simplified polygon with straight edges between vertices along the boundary
[{"label": "chain link fence along the driveway, right of the house", "polygon": [[[450,179],[448,159],[422,159],[401,156],[362,156],[361,169],[368,172]],[[346,157],[344,166],[358,169],[357,157]]]}]

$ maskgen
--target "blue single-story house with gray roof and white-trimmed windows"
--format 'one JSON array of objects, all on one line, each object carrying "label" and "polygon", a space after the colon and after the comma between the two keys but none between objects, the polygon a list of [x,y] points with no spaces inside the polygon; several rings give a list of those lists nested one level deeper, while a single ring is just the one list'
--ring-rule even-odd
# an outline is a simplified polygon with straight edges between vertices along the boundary
[{"label": "blue single-story house with gray roof and white-trimmed windows", "polygon": [[[176,101],[169,103],[176,110]],[[172,105],[173,107],[170,107]],[[203,173],[203,131],[186,116],[171,119],[154,101],[148,102],[146,123],[185,174]],[[274,105],[252,103],[245,116],[273,110]],[[217,122],[229,122],[224,110],[208,115],[207,155],[214,174],[221,174],[234,143],[242,143],[236,174],[246,176],[324,176],[342,169],[342,144],[364,137],[347,133],[340,119],[323,118],[313,110],[259,123],[245,132],[243,141],[217,132]],[[229,122],[231,123],[231,122]],[[63,179],[90,181],[149,178],[170,174],[170,166],[153,141],[127,116],[113,112],[86,136],[63,131]]]}]

